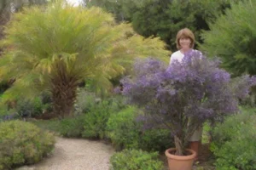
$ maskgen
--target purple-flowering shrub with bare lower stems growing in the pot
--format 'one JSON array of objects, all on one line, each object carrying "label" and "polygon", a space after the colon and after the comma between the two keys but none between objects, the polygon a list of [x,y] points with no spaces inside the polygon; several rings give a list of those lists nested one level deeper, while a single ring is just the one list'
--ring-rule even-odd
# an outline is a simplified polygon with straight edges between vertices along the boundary
[{"label": "purple-flowering shrub with bare lower stems growing in the pot", "polygon": [[209,60],[191,50],[183,60],[167,67],[159,60],[139,60],[134,75],[124,78],[123,91],[131,104],[143,108],[145,127],[167,127],[174,135],[177,155],[195,129],[209,119],[222,119],[238,111],[239,99],[255,85],[255,77],[232,80],[218,68],[218,59]]}]

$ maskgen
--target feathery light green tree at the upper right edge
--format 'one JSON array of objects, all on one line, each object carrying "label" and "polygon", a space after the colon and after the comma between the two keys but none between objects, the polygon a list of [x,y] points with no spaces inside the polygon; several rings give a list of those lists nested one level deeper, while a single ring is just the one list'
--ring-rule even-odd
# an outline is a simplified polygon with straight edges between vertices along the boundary
[{"label": "feathery light green tree at the upper right edge", "polygon": [[209,55],[217,55],[223,66],[234,76],[248,73],[256,74],[256,1],[248,0],[231,3],[226,14],[210,24],[211,31],[204,31],[204,44],[201,50]]}]

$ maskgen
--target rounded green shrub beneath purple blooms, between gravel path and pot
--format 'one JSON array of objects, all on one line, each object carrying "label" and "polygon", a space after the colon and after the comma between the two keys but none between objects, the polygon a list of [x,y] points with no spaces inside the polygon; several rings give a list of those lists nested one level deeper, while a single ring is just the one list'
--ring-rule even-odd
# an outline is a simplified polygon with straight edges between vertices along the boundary
[{"label": "rounded green shrub beneath purple blooms, between gravel path and pot", "polygon": [[111,139],[116,150],[163,151],[173,146],[169,130],[143,130],[143,123],[137,122],[138,114],[139,110],[130,106],[110,116],[107,123],[108,138]]}]

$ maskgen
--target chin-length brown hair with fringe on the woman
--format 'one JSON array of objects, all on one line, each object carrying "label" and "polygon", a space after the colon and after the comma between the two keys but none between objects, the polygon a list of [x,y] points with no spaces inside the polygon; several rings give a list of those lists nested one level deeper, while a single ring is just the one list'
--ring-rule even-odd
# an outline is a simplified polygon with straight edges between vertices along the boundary
[{"label": "chin-length brown hair with fringe on the woman", "polygon": [[178,31],[177,32],[177,36],[176,36],[176,47],[178,49],[181,48],[180,44],[179,44],[179,40],[181,38],[189,38],[190,41],[191,41],[191,44],[190,44],[190,48],[194,48],[194,45],[195,45],[195,36],[193,34],[193,32],[191,30],[189,30],[189,28],[183,28],[182,30]]}]

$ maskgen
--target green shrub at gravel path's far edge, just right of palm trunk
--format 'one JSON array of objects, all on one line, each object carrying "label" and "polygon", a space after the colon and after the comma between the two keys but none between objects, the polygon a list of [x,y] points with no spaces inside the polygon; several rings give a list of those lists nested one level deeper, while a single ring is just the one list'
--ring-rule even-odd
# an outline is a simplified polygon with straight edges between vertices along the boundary
[{"label": "green shrub at gravel path's far edge, just right of palm trunk", "polygon": [[94,105],[89,113],[84,115],[84,138],[104,139],[108,118],[115,111],[115,105],[109,100],[103,100]]}]

